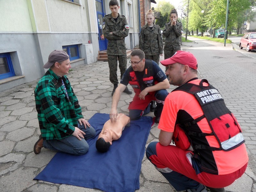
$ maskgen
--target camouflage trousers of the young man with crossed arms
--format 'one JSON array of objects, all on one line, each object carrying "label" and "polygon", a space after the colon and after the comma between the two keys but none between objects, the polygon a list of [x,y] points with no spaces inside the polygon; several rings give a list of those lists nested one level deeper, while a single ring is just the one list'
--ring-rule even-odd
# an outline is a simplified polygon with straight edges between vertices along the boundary
[{"label": "camouflage trousers of the young man with crossed arms", "polygon": [[109,80],[112,84],[118,84],[117,79],[117,59],[119,61],[119,69],[122,78],[127,68],[127,57],[125,55],[108,55]]}]

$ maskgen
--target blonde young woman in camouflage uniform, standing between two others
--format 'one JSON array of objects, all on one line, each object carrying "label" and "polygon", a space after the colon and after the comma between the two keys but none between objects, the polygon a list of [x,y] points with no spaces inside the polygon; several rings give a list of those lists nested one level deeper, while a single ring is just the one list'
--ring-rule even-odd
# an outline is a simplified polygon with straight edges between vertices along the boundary
[{"label": "blonde young woman in camouflage uniform, standing between two others", "polygon": [[140,49],[145,53],[145,59],[153,60],[159,65],[159,54],[163,55],[163,40],[161,29],[154,23],[152,10],[146,14],[147,24],[141,28]]}]

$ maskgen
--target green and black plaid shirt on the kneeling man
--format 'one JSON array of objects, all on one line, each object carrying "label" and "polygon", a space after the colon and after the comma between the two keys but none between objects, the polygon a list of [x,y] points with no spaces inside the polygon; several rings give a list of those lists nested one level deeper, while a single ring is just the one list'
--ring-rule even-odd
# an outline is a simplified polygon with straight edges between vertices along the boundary
[{"label": "green and black plaid shirt on the kneeling man", "polygon": [[[68,97],[65,95],[64,81]],[[76,95],[66,76],[57,76],[49,69],[36,85],[36,111],[44,140],[70,136],[77,127],[77,119],[84,118]]]}]

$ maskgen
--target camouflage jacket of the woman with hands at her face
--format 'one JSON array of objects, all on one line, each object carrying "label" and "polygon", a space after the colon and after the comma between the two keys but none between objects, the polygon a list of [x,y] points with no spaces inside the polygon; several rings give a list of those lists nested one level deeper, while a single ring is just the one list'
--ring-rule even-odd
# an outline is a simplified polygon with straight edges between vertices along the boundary
[{"label": "camouflage jacket of the woman with hands at her face", "polygon": [[181,46],[182,23],[178,22],[171,26],[171,22],[165,23],[163,35],[165,36],[164,51],[179,49]]}]

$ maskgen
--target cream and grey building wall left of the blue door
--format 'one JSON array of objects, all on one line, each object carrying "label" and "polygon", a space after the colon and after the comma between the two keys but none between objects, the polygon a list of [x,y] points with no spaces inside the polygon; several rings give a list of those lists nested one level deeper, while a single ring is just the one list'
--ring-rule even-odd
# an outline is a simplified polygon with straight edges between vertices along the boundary
[{"label": "cream and grey building wall left of the blue door", "polygon": [[[12,81],[0,80],[0,91],[43,76],[49,53],[61,50],[64,45],[88,44],[90,40],[96,61],[99,50],[96,14],[94,9],[89,9],[95,3],[80,2],[81,5],[63,0],[0,1],[0,53],[10,53],[15,75],[24,76]],[[71,65],[85,64],[85,61]]]}]

